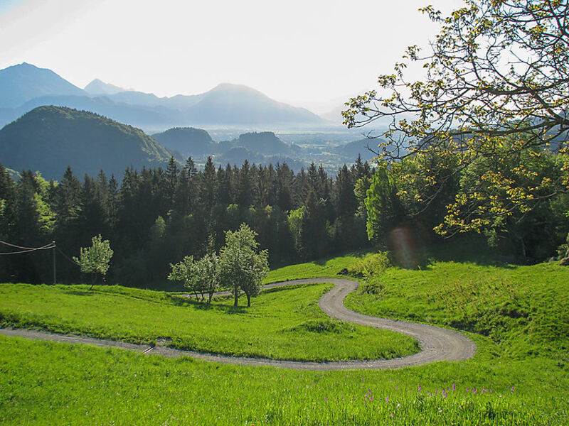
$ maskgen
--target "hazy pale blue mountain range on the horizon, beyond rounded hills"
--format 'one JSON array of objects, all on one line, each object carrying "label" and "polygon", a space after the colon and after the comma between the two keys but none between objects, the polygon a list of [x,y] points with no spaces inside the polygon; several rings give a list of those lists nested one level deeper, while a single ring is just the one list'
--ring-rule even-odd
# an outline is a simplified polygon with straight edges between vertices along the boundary
[{"label": "hazy pale blue mountain range on the horizon, beyond rounded hills", "polygon": [[93,80],[85,89],[26,62],[0,70],[0,126],[36,107],[83,109],[144,128],[173,126],[321,126],[307,109],[270,99],[238,84],[219,84],[195,95],[156,97]]}]

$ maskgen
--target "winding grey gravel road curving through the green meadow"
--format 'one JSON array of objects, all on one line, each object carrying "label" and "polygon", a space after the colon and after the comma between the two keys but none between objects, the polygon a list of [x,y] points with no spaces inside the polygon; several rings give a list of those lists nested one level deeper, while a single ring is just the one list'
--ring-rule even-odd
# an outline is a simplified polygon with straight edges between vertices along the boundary
[{"label": "winding grey gravel road curving through the green meadow", "polygon": [[407,334],[419,341],[421,350],[417,354],[403,356],[393,359],[374,359],[369,361],[329,361],[329,362],[307,362],[307,361],[281,361],[265,358],[246,358],[227,356],[219,354],[206,354],[196,351],[183,351],[164,346],[165,342],[158,342],[153,348],[148,345],[116,342],[112,340],[95,339],[92,337],[69,336],[64,334],[53,334],[38,330],[27,329],[0,329],[0,334],[6,336],[28,337],[29,339],[51,340],[54,342],[83,343],[96,346],[115,346],[122,349],[139,351],[144,354],[159,354],[163,356],[191,356],[196,359],[215,361],[225,364],[240,364],[250,366],[275,366],[281,368],[294,368],[296,370],[345,370],[353,368],[401,368],[407,366],[418,366],[434,361],[463,361],[474,356],[476,345],[472,340],[464,335],[450,329],[433,327],[432,325],[417,324],[415,322],[405,322],[388,320],[385,318],[370,317],[353,312],[344,306],[346,295],[356,290],[358,283],[352,280],[339,278],[312,278],[305,280],[292,280],[282,283],[272,283],[265,285],[265,288],[282,287],[285,285],[309,284],[309,283],[333,283],[336,286],[328,293],[323,295],[318,305],[327,315],[342,321],[352,322],[353,324],[366,325],[388,329],[393,332]]}]

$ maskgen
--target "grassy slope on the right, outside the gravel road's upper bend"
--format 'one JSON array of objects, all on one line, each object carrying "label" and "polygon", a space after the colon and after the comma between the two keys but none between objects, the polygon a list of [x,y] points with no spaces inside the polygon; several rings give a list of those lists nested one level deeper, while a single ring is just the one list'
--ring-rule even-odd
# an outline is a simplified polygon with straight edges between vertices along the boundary
[{"label": "grassy slope on the right, outside the gravel road's upper bend", "polygon": [[345,304],[368,315],[467,330],[490,337],[508,356],[543,355],[569,366],[569,268],[558,263],[388,268]]}]

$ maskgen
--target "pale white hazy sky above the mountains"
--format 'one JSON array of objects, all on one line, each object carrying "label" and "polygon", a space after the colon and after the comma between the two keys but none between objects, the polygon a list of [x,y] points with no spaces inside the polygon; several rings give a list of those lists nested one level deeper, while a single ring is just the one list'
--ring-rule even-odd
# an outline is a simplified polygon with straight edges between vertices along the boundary
[{"label": "pale white hazy sky above the mountains", "polygon": [[[323,111],[374,87],[461,0],[0,0],[0,68],[46,67],[159,96],[221,82]],[[1,96],[1,95],[0,95]]]}]

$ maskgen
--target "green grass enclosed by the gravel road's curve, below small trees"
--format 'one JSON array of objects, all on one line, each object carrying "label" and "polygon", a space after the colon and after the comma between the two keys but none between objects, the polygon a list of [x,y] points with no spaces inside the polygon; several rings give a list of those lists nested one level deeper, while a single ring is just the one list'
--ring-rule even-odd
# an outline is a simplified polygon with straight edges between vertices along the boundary
[{"label": "green grass enclosed by the gravel road's curve, below small trees", "polygon": [[127,342],[166,337],[180,349],[273,359],[376,359],[418,351],[410,337],[329,320],[317,305],[329,288],[272,289],[250,308],[234,308],[230,299],[206,306],[119,286],[1,284],[0,325]]}]

